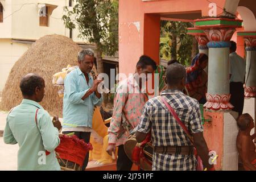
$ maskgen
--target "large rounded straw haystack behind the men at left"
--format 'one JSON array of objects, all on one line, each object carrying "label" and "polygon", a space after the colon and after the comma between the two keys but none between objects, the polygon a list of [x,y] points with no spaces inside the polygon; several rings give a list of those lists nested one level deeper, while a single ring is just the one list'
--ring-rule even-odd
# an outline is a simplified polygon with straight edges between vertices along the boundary
[{"label": "large rounded straw haystack behind the men at left", "polygon": [[71,39],[61,35],[47,35],[32,44],[11,69],[2,92],[1,110],[10,110],[19,105],[22,94],[20,79],[27,73],[36,73],[46,81],[46,96],[40,103],[51,115],[62,117],[63,101],[52,85],[52,75],[68,64],[77,65],[77,53],[81,48]]}]

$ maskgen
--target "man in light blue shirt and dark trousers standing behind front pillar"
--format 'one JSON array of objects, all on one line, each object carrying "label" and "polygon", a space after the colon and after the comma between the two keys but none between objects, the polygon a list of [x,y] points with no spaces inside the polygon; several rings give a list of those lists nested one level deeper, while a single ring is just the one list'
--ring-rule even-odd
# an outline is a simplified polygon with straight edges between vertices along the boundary
[{"label": "man in light blue shirt and dark trousers standing behind front pillar", "polygon": [[230,55],[229,55],[229,74],[230,74],[230,103],[234,106],[233,111],[238,112],[239,115],[243,112],[243,103],[245,101],[245,91],[243,84],[245,82],[246,62],[237,55],[237,44],[231,41]]}]

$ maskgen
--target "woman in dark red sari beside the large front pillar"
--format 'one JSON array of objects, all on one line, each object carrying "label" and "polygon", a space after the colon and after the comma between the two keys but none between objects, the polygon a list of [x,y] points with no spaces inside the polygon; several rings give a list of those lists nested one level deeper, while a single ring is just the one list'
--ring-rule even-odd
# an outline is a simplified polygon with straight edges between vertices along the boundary
[{"label": "woman in dark red sari beside the large front pillar", "polygon": [[207,93],[208,76],[204,69],[208,65],[208,56],[204,53],[197,54],[191,67],[187,68],[187,80],[185,88],[190,97],[199,101],[199,104],[207,102],[205,94]]}]

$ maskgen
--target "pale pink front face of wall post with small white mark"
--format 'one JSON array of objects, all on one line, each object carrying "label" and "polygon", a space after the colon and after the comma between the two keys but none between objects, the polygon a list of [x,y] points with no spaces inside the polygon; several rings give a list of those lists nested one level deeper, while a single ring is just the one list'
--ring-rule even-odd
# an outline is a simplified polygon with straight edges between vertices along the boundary
[{"label": "pale pink front face of wall post with small white mark", "polygon": [[[136,7],[136,8],[135,8]],[[119,0],[119,73],[134,73],[143,54],[144,15],[141,2]]]}]

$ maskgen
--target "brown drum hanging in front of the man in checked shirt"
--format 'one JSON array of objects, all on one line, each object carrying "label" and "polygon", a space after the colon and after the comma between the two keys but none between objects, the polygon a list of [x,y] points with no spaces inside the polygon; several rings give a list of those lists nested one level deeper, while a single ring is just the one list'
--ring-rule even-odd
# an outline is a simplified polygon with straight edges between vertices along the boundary
[{"label": "brown drum hanging in front of the man in checked shirt", "polygon": [[[133,155],[133,150],[135,146],[137,145],[137,140],[136,140],[136,135],[135,133],[131,133],[126,140],[125,143],[125,153],[128,156],[128,158],[132,160],[132,155]],[[153,158],[153,147],[152,147],[152,142],[148,142],[144,145],[142,152],[144,154],[144,157],[146,159],[141,159],[141,169],[145,171],[151,171],[152,170],[152,158]]]}]

